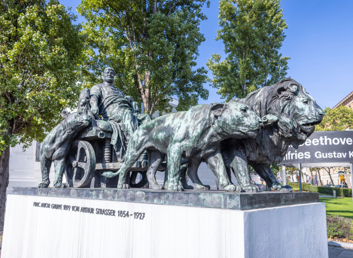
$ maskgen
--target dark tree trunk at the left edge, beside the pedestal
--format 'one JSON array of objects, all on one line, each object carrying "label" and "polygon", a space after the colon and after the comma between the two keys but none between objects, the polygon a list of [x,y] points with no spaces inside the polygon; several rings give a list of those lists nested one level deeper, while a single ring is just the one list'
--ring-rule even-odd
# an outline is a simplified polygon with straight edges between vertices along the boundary
[{"label": "dark tree trunk at the left edge, beside the pedestal", "polygon": [[5,217],[6,188],[9,182],[10,147],[0,155],[0,230],[2,231]]}]

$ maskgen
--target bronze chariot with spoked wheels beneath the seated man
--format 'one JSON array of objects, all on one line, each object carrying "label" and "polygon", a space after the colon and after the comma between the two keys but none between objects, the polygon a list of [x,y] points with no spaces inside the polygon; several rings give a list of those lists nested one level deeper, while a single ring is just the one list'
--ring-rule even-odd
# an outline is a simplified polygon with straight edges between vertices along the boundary
[{"label": "bronze chariot with spoked wheels beneath the seated man", "polygon": [[[77,111],[90,114],[92,123],[74,136],[65,161],[65,175],[69,186],[75,188],[114,187],[112,181],[117,182],[118,177],[109,180],[101,176],[101,173],[105,171],[118,171],[123,164],[118,161],[115,150],[110,144],[113,131],[101,129],[97,125],[98,120],[96,119],[100,118],[92,115],[87,105],[89,97],[88,99],[85,98],[87,98],[87,94],[82,91]],[[132,102],[132,105],[134,106],[133,112],[137,113],[137,103]],[[143,187],[148,182],[147,170],[148,155],[146,153],[141,155],[139,160],[130,168],[126,183],[132,188]],[[140,181],[136,183],[139,174]]]}]

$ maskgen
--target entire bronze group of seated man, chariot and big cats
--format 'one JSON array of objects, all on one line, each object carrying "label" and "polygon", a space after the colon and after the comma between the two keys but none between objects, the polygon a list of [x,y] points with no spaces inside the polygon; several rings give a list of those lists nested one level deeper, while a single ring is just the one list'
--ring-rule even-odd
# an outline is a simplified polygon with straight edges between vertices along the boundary
[{"label": "entire bronze group of seated man, chariot and big cats", "polygon": [[[63,122],[45,138],[38,187],[49,186],[54,161],[54,187],[87,187],[93,178],[94,187],[101,187],[119,176],[116,187],[129,188],[140,171],[142,184],[149,181],[153,189],[190,189],[187,174],[197,189],[209,190],[197,174],[206,162],[225,191],[259,191],[249,165],[275,190],[293,191],[279,183],[270,166],[290,145],[303,144],[325,115],[300,83],[285,78],[244,99],[200,104],[151,120],[114,87],[114,76],[112,68],[105,69],[104,81],[84,89],[77,112],[63,112]],[[156,182],[157,170],[165,170],[164,186]],[[231,172],[238,184],[232,183]]]}]

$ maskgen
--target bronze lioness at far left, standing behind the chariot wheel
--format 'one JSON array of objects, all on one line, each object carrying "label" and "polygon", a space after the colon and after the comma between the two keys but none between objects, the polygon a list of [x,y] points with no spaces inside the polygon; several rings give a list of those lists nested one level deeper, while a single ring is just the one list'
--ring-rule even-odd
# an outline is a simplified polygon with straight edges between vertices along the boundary
[{"label": "bronze lioness at far left, standing behind the chariot wheel", "polygon": [[54,161],[55,169],[54,187],[66,187],[62,183],[62,179],[65,172],[65,158],[70,151],[71,140],[75,132],[86,128],[91,122],[91,117],[82,112],[68,113],[64,110],[61,115],[64,120],[50,131],[41,144],[42,182],[38,184],[38,187],[49,186],[52,161]]}]

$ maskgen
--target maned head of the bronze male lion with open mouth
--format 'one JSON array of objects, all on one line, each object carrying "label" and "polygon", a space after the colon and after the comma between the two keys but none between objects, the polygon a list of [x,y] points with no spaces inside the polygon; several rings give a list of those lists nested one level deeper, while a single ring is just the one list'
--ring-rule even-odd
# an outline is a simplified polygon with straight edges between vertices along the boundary
[{"label": "maned head of the bronze male lion with open mouth", "polygon": [[321,123],[325,112],[303,86],[292,78],[278,81],[273,87],[268,113],[278,117],[281,135],[292,137],[293,147],[303,144]]}]

